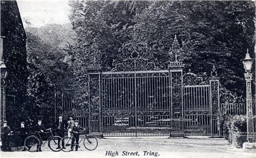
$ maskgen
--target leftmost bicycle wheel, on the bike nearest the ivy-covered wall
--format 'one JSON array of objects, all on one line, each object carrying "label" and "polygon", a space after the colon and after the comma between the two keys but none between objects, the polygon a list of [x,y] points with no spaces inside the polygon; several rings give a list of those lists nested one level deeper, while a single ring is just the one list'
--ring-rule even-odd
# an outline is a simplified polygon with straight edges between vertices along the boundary
[{"label": "leftmost bicycle wheel, on the bike nearest the ivy-covered wall", "polygon": [[31,135],[27,137],[24,141],[24,146],[26,151],[35,152],[38,150],[39,145],[42,145],[38,137]]}]

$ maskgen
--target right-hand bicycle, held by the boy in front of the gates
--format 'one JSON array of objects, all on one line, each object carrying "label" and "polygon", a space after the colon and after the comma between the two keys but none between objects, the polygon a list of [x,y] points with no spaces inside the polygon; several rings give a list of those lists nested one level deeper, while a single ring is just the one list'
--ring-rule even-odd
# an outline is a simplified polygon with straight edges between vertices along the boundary
[{"label": "right-hand bicycle, held by the boy in front of the gates", "polygon": [[[74,149],[75,145],[79,145],[79,144],[81,143],[81,141],[83,141],[83,140],[84,140],[83,144],[84,144],[85,148],[86,148],[87,150],[89,150],[89,151],[95,150],[96,147],[98,146],[98,141],[97,141],[96,137],[93,136],[93,135],[87,135],[87,133],[85,132],[85,130],[83,130],[83,131],[81,131],[81,132],[78,132],[78,133],[84,133],[84,134],[85,134],[85,137],[82,138],[82,139],[78,142],[78,144],[75,143],[74,132],[70,132],[70,133],[71,133],[71,137],[65,136],[65,137],[63,137],[63,138],[61,139],[61,141],[63,140],[64,143],[66,144],[66,149],[62,149],[62,148],[61,148],[61,150],[64,151],[64,152],[70,152],[70,151],[72,151],[72,150]],[[74,138],[74,141],[72,142],[72,139],[73,139],[73,138]],[[61,141],[60,141],[60,142],[61,142]],[[71,145],[70,149],[68,149],[69,147],[67,147],[67,146],[69,146],[69,145]],[[79,146],[79,147],[80,147],[80,146]]]}]

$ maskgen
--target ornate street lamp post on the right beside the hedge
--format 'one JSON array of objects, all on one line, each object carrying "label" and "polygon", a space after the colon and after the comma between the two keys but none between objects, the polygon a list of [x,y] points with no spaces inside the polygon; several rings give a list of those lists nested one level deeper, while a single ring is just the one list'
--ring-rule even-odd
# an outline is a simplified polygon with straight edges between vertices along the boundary
[{"label": "ornate street lamp post on the right beside the hedge", "polygon": [[246,121],[247,121],[247,140],[248,142],[252,143],[252,133],[253,129],[253,113],[252,113],[252,88],[251,88],[251,81],[252,81],[252,64],[253,60],[250,57],[250,54],[247,53],[243,60],[244,69],[245,69],[245,81],[246,81]]}]

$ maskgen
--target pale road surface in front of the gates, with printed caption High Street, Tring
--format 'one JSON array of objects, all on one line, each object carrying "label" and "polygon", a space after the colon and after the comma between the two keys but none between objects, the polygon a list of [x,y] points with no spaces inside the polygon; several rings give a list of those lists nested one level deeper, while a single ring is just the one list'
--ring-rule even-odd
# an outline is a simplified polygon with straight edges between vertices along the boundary
[{"label": "pale road surface in front of the gates, with printed caption High Street, Tring", "polygon": [[256,151],[234,149],[227,140],[206,136],[189,136],[186,139],[162,136],[104,137],[98,139],[95,151],[88,151],[84,146],[68,153],[52,152],[48,146],[42,147],[42,151],[1,152],[1,157],[256,157]]}]

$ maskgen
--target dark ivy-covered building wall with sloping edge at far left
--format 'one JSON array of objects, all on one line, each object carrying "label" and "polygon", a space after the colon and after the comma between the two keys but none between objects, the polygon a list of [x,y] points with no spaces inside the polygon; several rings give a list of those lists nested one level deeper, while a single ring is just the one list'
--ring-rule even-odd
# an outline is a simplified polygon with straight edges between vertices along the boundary
[{"label": "dark ivy-covered building wall with sloping edge at far left", "polygon": [[23,121],[28,82],[26,34],[16,1],[1,1],[1,36],[5,36],[3,57],[8,70],[6,120],[16,125]]}]

